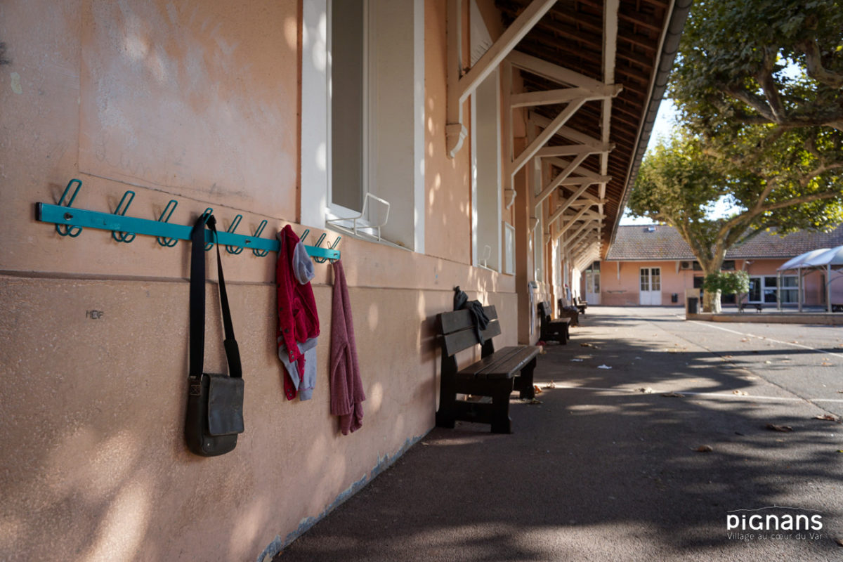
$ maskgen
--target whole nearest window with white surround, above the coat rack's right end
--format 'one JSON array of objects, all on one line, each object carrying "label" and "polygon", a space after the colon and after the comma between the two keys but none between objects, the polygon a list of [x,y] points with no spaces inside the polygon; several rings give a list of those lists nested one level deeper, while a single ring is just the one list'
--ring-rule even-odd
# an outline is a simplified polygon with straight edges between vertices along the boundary
[{"label": "whole nearest window with white surround, above the coat rack's right end", "polygon": [[380,234],[423,252],[423,0],[303,0],[302,43],[302,223],[376,234],[389,201]]}]

